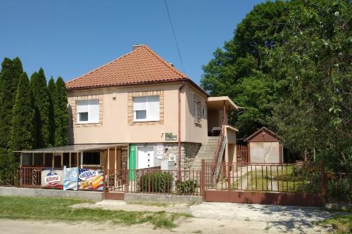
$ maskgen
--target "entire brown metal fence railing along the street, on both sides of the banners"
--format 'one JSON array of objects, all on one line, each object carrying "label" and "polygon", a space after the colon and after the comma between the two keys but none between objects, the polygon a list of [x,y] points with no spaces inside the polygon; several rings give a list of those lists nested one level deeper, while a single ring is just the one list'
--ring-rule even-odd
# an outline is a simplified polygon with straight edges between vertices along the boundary
[{"label": "entire brown metal fence railing along the street, on both sides of the banners", "polygon": [[[320,163],[215,164],[202,171],[153,169],[105,169],[105,191],[201,196],[205,190],[239,190],[279,193],[327,193],[329,202],[351,202],[351,173],[325,173]],[[0,180],[0,186],[42,188],[42,167],[20,167]],[[215,181],[215,182],[214,182]]]}]

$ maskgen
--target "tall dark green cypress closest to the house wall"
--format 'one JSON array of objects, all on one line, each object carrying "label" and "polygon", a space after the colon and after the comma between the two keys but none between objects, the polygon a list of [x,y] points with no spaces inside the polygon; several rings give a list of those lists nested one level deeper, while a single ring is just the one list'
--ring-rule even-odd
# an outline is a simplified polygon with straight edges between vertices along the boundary
[{"label": "tall dark green cypress closest to the house wall", "polygon": [[55,145],[68,144],[68,99],[65,82],[58,77],[54,92]]}]

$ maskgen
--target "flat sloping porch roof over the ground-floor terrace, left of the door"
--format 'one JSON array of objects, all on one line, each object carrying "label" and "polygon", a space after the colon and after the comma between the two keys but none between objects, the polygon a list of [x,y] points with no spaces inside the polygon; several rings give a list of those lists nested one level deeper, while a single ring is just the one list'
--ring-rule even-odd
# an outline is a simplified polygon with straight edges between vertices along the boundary
[{"label": "flat sloping porch roof over the ground-floor terrace, left of the door", "polygon": [[51,148],[41,148],[34,150],[18,150],[13,152],[25,152],[25,153],[44,153],[44,152],[83,152],[89,150],[103,150],[115,146],[127,146],[128,144],[80,144],[80,145],[63,145]]}]

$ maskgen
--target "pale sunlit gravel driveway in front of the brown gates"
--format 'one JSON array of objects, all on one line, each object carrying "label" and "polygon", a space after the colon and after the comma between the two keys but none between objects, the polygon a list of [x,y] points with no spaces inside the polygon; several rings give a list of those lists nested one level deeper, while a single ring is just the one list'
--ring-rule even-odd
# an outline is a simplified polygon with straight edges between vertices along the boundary
[{"label": "pale sunlit gravel driveway in front of the brown gates", "polygon": [[[180,223],[173,231],[183,233],[202,230],[203,233],[325,233],[313,226],[313,221],[328,219],[337,213],[316,207],[291,207],[263,204],[239,204],[203,202],[202,204],[174,204],[155,207],[143,204],[127,204],[123,201],[104,200],[96,204],[77,204],[74,207],[101,209],[182,212],[192,214],[193,219]],[[346,214],[346,213],[344,213]],[[234,225],[236,223],[236,225]],[[197,229],[201,227],[201,229]],[[215,228],[215,229],[214,229]]]}]

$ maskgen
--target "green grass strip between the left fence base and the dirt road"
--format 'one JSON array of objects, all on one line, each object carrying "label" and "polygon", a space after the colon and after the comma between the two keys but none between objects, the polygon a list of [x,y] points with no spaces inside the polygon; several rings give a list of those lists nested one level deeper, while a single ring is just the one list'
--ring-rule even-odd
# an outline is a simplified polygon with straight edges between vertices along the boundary
[{"label": "green grass strip between the left fence base and the dirt road", "polygon": [[189,214],[166,212],[126,212],[103,209],[73,209],[71,205],[89,201],[51,197],[0,197],[0,219],[92,221],[132,225],[151,223],[154,228],[175,228],[175,219]]}]

